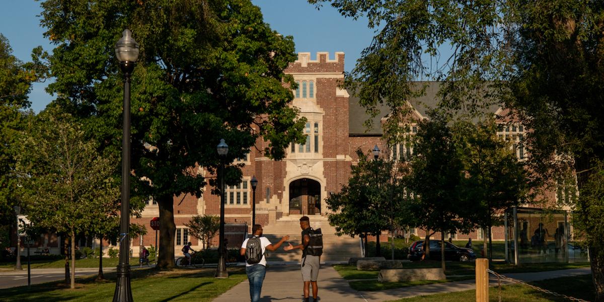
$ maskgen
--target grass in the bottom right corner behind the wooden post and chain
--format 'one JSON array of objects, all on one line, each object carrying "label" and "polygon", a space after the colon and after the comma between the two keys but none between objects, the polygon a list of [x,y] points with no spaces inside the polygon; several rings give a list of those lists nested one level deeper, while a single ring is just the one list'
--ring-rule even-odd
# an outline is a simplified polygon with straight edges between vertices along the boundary
[{"label": "grass in the bottom right corner behind the wooden post and chain", "polygon": [[[532,284],[540,288],[555,291],[558,294],[568,295],[570,297],[593,301],[594,287],[591,283],[591,275],[580,275],[576,277],[554,278],[549,280],[536,281]],[[489,288],[489,301],[499,301],[500,291],[497,287]],[[451,292],[447,294],[434,294],[420,297],[403,298],[393,300],[392,302],[422,301],[422,302],[457,302],[474,301],[476,291]],[[501,301],[518,302],[545,302],[545,301],[568,301],[565,298],[559,298],[554,295],[545,294],[541,291],[529,288],[525,285],[508,285],[501,287]]]}]

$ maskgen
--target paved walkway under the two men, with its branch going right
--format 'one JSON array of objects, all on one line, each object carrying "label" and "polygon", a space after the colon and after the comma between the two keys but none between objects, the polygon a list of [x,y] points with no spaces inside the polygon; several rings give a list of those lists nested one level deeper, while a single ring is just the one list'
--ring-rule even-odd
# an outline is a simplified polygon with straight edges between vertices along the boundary
[{"label": "paved walkway under the two men, with its branch going right", "polygon": [[[523,281],[535,281],[590,273],[590,268],[578,268],[565,269],[561,271],[530,272],[505,275]],[[496,278],[492,275],[490,277],[491,286],[495,286],[497,284]],[[391,301],[398,300],[400,298],[417,297],[420,295],[469,291],[475,289],[474,280],[464,280],[448,283],[411,286],[399,289],[388,289],[379,292],[358,292],[350,288],[348,281],[341,278],[338,272],[336,272],[335,269],[329,265],[324,265],[321,267],[318,285],[320,301],[345,302]],[[302,276],[300,274],[299,265],[269,266],[266,271],[264,284],[262,286],[262,298],[260,301],[301,301],[303,298],[302,289]],[[247,301],[248,297],[249,283],[247,281],[243,281],[213,301]]]}]

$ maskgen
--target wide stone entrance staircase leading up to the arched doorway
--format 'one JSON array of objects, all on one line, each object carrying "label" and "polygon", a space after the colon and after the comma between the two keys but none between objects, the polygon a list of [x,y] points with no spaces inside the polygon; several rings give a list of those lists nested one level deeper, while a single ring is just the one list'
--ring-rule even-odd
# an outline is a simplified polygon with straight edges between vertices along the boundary
[{"label": "wide stone entrance staircase leading up to the arched doorway", "polygon": [[[310,218],[310,226],[313,229],[321,228],[323,233],[323,255],[321,262],[338,261],[347,262],[350,257],[361,256],[361,246],[359,238],[351,238],[344,235],[336,236],[336,230],[329,225],[327,217],[321,215],[308,215]],[[289,243],[299,245],[301,240],[300,217],[302,215],[284,216],[277,220],[274,224],[264,226],[263,235],[271,240],[272,243],[277,243],[281,237],[289,235]],[[300,262],[302,251],[294,249],[292,251],[283,251],[283,247],[288,245],[288,242],[283,243],[277,251],[266,251],[266,259],[269,262]]]}]

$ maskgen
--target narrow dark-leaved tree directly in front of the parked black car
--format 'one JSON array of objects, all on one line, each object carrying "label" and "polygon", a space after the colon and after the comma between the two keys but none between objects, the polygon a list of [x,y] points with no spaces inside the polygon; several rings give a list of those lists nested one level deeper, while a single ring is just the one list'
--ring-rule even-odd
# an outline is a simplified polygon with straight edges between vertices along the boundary
[{"label": "narrow dark-leaved tree directly in front of the parked black car", "polygon": [[431,111],[429,115],[430,120],[418,124],[414,141],[408,184],[416,198],[410,209],[416,217],[415,225],[426,230],[426,257],[430,255],[430,236],[440,232],[440,256],[445,269],[445,234],[469,231],[472,224],[464,214],[474,205],[460,195],[464,167],[451,126],[442,113]]}]

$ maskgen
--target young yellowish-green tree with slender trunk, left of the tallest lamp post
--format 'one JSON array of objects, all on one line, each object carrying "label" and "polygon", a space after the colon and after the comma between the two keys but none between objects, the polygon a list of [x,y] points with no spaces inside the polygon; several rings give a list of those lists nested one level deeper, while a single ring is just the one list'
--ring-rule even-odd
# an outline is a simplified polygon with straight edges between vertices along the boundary
[{"label": "young yellowish-green tree with slender trunk, left of the tallest lamp post", "polygon": [[[37,228],[71,237],[71,288],[75,288],[76,234],[97,230],[118,215],[114,163],[98,155],[80,125],[52,106],[30,119],[19,141],[17,171],[24,210]],[[67,258],[66,258],[67,260]]]}]

